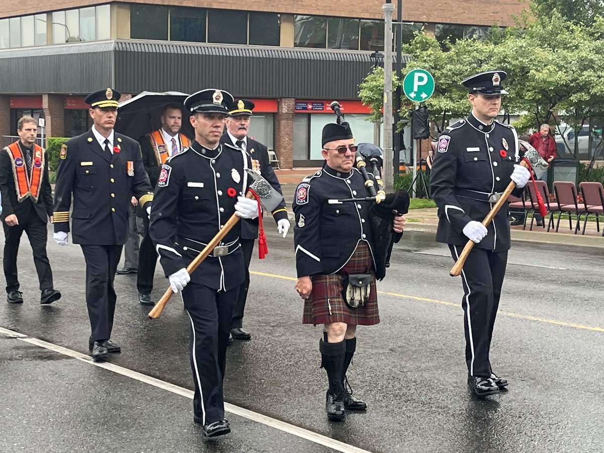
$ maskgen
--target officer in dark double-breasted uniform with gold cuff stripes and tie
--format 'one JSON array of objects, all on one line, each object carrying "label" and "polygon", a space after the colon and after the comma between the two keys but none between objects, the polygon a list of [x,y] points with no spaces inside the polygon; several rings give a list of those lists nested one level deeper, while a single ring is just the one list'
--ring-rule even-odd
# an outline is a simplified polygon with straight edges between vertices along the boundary
[{"label": "officer in dark double-breasted uniform with gold cuff stripes and tie", "polygon": [[54,240],[67,245],[69,207],[73,242],[86,261],[86,305],[92,329],[89,349],[102,361],[121,348],[111,341],[114,277],[128,236],[130,199],[150,211],[153,193],[138,143],[114,132],[120,93],[111,88],[86,97],[91,130],[63,144],[54,193]]}]

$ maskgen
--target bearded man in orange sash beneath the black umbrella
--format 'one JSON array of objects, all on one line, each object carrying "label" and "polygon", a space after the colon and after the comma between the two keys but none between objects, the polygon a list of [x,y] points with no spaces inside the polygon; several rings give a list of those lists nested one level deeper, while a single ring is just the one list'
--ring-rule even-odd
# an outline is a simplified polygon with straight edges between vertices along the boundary
[{"label": "bearded man in orange sash beneath the black umbrella", "polygon": [[[180,133],[182,104],[166,104],[164,111],[161,112],[160,120],[160,129],[154,130],[140,139],[143,165],[153,187],[157,184],[159,171],[165,161],[191,146],[191,140]],[[143,237],[138,251],[138,301],[143,305],[154,305],[155,302],[151,300],[151,291],[153,290],[157,254],[149,237],[149,218],[141,209],[137,210],[137,230]]]}]

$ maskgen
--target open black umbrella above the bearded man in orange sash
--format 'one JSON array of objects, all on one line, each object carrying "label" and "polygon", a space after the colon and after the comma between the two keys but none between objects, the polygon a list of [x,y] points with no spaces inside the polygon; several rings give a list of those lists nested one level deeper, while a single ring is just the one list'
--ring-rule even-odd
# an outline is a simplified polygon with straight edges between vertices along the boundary
[{"label": "open black umbrella above the bearded man in orange sash", "polygon": [[[118,133],[139,140],[143,135],[161,127],[159,117],[161,117],[165,104],[182,104],[187,96],[188,94],[179,91],[166,91],[164,93],[143,91],[141,94],[120,103],[114,129]],[[193,138],[195,135],[189,116],[189,112],[183,106],[181,133]]]}]

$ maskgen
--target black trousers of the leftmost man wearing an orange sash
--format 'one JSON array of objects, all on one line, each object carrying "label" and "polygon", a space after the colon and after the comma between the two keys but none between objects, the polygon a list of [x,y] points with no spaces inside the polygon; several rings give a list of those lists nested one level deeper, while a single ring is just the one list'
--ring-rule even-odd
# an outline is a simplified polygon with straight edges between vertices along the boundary
[{"label": "black trousers of the leftmost man wearing an orange sash", "polygon": [[[25,201],[28,203],[29,201]],[[4,226],[4,277],[6,278],[6,292],[19,289],[19,278],[17,275],[17,255],[19,253],[19,243],[21,235],[25,231],[27,239],[30,240],[31,251],[34,255],[34,265],[40,281],[40,291],[53,288],[53,271],[50,269],[50,262],[46,252],[46,243],[48,231],[46,222],[32,208],[27,215],[18,216],[19,225]]]}]

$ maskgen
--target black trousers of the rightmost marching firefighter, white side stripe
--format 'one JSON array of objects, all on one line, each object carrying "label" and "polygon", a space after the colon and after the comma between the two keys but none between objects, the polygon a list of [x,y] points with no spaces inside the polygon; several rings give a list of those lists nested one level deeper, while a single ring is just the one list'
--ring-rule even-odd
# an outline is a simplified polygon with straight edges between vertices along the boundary
[{"label": "black trousers of the rightmost marching firefighter, white side stripe", "polygon": [[[449,249],[453,259],[457,261],[463,246],[449,245]],[[506,265],[507,250],[493,252],[473,248],[461,271],[466,363],[471,376],[489,377],[492,373],[489,361],[490,342]]]}]

